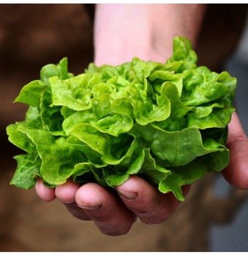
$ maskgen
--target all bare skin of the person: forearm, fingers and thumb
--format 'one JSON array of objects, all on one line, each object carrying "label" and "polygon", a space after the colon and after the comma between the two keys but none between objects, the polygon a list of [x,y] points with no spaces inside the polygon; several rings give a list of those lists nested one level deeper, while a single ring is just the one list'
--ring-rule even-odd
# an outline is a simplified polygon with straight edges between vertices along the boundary
[{"label": "all bare skin of the person: forearm, fingers and thumb", "polygon": [[[117,65],[134,56],[164,62],[171,56],[173,37],[182,35],[196,42],[204,9],[204,4],[97,5],[96,65]],[[230,164],[223,175],[230,184],[248,189],[248,138],[237,113],[229,124],[227,146]],[[126,234],[137,218],[144,223],[161,223],[180,203],[172,193],[163,194],[135,175],[118,186],[116,193],[96,183],[80,186],[71,180],[55,189],[38,180],[36,191],[45,201],[58,198],[74,217],[92,220],[103,234],[111,236]],[[186,195],[189,186],[183,191]]]}]

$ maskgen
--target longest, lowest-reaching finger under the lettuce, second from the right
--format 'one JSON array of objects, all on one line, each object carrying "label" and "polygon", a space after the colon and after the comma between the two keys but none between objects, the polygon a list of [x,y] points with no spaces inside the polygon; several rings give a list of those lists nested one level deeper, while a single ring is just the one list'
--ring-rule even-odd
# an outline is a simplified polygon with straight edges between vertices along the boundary
[{"label": "longest, lowest-reaching finger under the lettuce, second from the right", "polygon": [[118,196],[96,183],[81,186],[76,192],[75,200],[103,234],[124,235],[135,221],[134,214]]}]

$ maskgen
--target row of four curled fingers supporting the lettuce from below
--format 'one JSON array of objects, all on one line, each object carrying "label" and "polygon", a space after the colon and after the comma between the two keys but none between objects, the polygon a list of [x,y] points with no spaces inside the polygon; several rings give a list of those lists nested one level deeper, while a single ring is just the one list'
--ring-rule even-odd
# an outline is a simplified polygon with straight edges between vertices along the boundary
[{"label": "row of four curled fingers supporting the lettuce from below", "polygon": [[[184,187],[185,194],[188,189]],[[172,193],[163,194],[138,176],[130,176],[116,192],[96,183],[80,186],[71,180],[55,189],[38,180],[36,191],[46,201],[58,198],[74,217],[94,221],[103,234],[111,236],[126,234],[137,218],[149,224],[163,222],[179,205]]]}]

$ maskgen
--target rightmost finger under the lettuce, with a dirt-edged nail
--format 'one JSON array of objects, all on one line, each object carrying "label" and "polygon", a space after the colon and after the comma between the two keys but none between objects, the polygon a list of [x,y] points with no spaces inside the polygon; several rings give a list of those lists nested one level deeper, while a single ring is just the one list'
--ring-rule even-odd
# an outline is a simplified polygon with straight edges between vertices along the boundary
[{"label": "rightmost finger under the lettuce, with a dirt-edged nail", "polygon": [[163,194],[138,176],[117,187],[124,204],[144,223],[165,221],[179,205],[172,193]]}]

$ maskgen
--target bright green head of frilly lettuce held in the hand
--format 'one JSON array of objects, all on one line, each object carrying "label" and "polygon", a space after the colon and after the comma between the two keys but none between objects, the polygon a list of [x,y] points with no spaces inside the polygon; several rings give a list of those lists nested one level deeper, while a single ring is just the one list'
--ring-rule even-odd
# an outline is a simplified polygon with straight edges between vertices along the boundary
[{"label": "bright green head of frilly lettuce held in the hand", "polygon": [[10,183],[28,189],[39,176],[55,187],[71,177],[115,187],[137,174],[184,200],[183,185],[222,171],[236,79],[197,67],[184,37],[173,49],[164,64],[91,63],[77,76],[66,58],[43,67],[15,99],[29,105],[25,120],[6,128],[25,152]]}]

